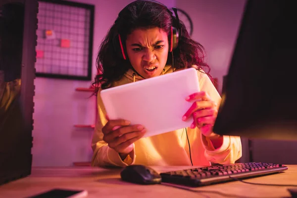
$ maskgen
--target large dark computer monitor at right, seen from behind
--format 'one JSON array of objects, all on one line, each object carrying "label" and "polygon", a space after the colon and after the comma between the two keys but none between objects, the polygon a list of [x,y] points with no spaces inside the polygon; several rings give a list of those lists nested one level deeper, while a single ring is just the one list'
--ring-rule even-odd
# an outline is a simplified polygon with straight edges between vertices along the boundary
[{"label": "large dark computer monitor at right, seen from behind", "polygon": [[247,0],[213,131],[297,140],[297,12],[290,0]]}]

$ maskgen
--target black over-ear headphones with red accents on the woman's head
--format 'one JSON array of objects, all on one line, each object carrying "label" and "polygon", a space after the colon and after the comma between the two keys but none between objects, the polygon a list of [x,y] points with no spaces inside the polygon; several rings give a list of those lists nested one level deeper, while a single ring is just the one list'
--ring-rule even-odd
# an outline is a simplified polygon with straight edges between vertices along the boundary
[{"label": "black over-ear headphones with red accents on the woman's head", "polygon": [[[155,0],[136,0],[136,1],[133,1],[131,3],[129,3],[127,6],[125,6],[118,14],[118,18],[121,17],[121,14],[123,13],[123,11],[125,11],[127,9],[127,7],[131,4],[134,4],[136,2],[139,2],[139,1],[148,1],[148,2],[153,2],[153,3],[156,3],[158,5],[161,5],[162,7],[164,7],[165,9],[167,9],[167,11],[170,13],[170,15],[172,16],[172,12],[167,8],[166,5],[164,5],[163,3],[160,3],[158,1],[155,1]],[[169,52],[172,52],[174,49],[177,48],[178,46],[178,41],[179,41],[179,38],[180,38],[180,35],[182,33],[181,31],[181,27],[180,27],[180,21],[179,21],[179,18],[178,18],[178,14],[177,14],[177,9],[176,7],[172,7],[172,10],[174,11],[175,13],[175,16],[176,16],[176,21],[177,21],[177,27],[173,27],[171,26],[171,33],[170,33],[170,41],[169,41]],[[172,20],[174,20],[174,18],[172,17]],[[115,21],[115,24],[117,23],[117,20]],[[116,54],[118,55],[118,57],[120,58],[123,58],[123,59],[127,59],[127,55],[125,53],[125,49],[124,49],[124,45],[123,45],[123,41],[121,39],[121,36],[120,34],[117,34],[114,38],[113,38],[113,48],[116,52]]]}]

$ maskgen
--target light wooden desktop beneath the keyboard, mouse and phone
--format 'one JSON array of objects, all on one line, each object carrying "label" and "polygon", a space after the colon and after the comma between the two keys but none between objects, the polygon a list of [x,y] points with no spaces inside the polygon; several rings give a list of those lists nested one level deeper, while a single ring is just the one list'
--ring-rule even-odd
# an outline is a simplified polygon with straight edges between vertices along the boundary
[{"label": "light wooden desktop beneath the keyboard, mouse and phone", "polygon": [[[297,185],[297,165],[288,165],[284,173],[248,179],[248,182]],[[153,167],[164,172],[185,166]],[[84,189],[88,198],[288,198],[289,187],[259,186],[228,182],[191,191],[167,185],[138,185],[120,180],[121,169],[98,167],[33,167],[29,177],[0,186],[0,198],[24,198],[52,188]],[[183,187],[184,188],[184,187]],[[292,187],[290,187],[292,188]]]}]

